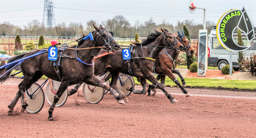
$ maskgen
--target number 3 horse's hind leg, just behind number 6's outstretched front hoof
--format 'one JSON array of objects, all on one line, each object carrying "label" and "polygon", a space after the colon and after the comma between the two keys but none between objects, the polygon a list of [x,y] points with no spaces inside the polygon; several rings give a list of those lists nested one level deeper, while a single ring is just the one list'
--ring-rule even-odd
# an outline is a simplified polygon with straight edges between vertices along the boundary
[{"label": "number 3 horse's hind leg, just behind number 6's outstretched front hoof", "polygon": [[112,76],[112,79],[111,79],[111,82],[110,82],[110,86],[111,88],[113,88],[118,94],[119,96],[123,99],[124,102],[129,102],[128,101],[128,98],[125,96],[124,93],[122,93],[117,87],[116,87],[116,83],[119,79],[119,76],[120,76],[120,72],[119,73],[116,73],[114,71],[111,71],[111,76]]}]

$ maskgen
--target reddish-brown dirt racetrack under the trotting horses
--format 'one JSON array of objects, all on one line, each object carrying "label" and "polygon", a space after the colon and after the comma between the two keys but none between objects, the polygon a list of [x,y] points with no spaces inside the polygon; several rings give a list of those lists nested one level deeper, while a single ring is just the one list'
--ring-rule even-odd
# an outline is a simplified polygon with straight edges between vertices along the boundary
[{"label": "reddish-brown dirt racetrack under the trotting horses", "polygon": [[[187,88],[192,97],[185,98],[180,89],[168,88],[179,93],[172,94],[177,103],[171,104],[162,93],[154,97],[131,94],[126,105],[118,104],[109,93],[98,104],[90,104],[76,93],[62,107],[55,108],[55,121],[47,121],[50,105],[46,101],[37,114],[8,116],[7,106],[17,93],[17,84],[0,84],[0,89],[1,137],[255,137],[256,134],[255,93]],[[20,101],[15,109],[19,107]]]}]

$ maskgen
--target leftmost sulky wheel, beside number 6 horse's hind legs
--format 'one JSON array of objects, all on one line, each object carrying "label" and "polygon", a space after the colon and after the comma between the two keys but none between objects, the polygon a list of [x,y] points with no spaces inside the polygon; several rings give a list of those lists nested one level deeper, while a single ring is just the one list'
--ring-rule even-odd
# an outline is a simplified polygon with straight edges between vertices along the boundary
[{"label": "leftmost sulky wheel, beside number 6 horse's hind legs", "polygon": [[[37,91],[36,91],[37,90]],[[35,92],[36,91],[36,92]],[[34,93],[35,92],[35,93]],[[32,86],[25,91],[28,106],[26,111],[29,113],[38,113],[44,106],[44,91],[38,83],[33,83]],[[33,94],[34,93],[34,94]],[[31,97],[28,95],[33,94]],[[21,101],[23,98],[21,97]]]}]

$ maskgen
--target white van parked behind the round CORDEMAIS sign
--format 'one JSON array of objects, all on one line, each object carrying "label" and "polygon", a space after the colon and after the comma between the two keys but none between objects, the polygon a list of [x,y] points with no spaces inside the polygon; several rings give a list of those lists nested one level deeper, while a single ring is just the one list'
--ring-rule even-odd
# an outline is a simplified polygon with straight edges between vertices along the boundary
[{"label": "white van parked behind the round CORDEMAIS sign", "polygon": [[[256,34],[255,30],[256,28],[254,28],[254,34]],[[256,37],[249,42],[242,32],[242,38],[245,46],[251,45],[252,41],[254,42],[253,47],[249,47],[249,49],[243,51],[244,55],[249,57],[253,52],[256,53]],[[234,40],[237,41],[236,29]],[[218,66],[218,69],[221,70],[223,66],[229,64],[230,52],[220,45],[216,36],[216,26],[213,26],[213,30],[208,35],[208,66]],[[232,52],[232,66],[235,71],[239,69],[238,52]]]}]

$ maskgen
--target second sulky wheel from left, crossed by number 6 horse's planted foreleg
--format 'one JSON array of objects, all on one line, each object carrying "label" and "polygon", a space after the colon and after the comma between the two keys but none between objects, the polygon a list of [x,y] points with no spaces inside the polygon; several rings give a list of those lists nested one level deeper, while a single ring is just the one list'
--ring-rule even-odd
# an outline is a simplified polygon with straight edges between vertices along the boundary
[{"label": "second sulky wheel from left, crossed by number 6 horse's planted foreleg", "polygon": [[[52,80],[52,90],[51,90],[51,84],[50,82],[47,84],[46,89],[45,89],[45,98],[46,101],[52,105],[54,97],[56,92],[58,91],[60,87],[61,82]],[[52,92],[53,91],[53,92]],[[59,101],[56,103],[56,107],[61,107],[67,100],[67,89],[62,93],[61,98]]]}]

